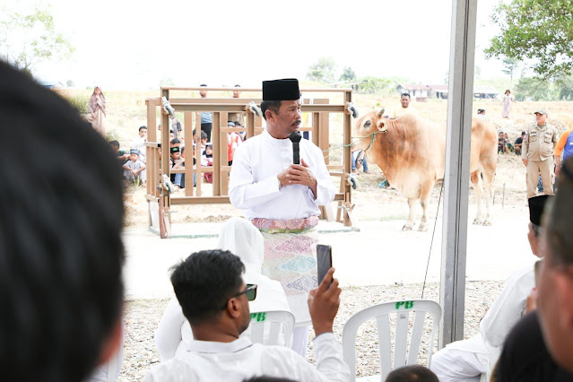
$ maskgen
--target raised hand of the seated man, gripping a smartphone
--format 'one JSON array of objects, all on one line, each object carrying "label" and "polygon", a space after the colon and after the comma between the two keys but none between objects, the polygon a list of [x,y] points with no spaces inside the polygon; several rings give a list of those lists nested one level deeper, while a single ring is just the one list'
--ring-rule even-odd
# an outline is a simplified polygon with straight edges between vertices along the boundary
[{"label": "raised hand of the seated man, gripping a smartphone", "polygon": [[[308,292],[308,310],[315,334],[332,333],[333,322],[340,306],[338,280],[333,278],[334,268],[330,268],[317,289]],[[330,284],[330,281],[333,283]],[[328,285],[330,284],[330,288]]]}]

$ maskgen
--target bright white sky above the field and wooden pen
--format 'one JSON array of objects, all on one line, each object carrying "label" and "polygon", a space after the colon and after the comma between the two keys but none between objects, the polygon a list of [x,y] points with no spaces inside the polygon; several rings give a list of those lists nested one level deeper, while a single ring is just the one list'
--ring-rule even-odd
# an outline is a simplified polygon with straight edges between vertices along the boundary
[{"label": "bright white sky above the field and wooden pen", "polygon": [[[449,65],[451,1],[339,0],[51,0],[56,29],[76,48],[65,62],[38,65],[37,77],[106,89],[241,84],[304,78],[321,56],[339,73],[401,76],[443,83]],[[495,32],[497,0],[480,0],[476,64],[499,77],[482,55]]]}]

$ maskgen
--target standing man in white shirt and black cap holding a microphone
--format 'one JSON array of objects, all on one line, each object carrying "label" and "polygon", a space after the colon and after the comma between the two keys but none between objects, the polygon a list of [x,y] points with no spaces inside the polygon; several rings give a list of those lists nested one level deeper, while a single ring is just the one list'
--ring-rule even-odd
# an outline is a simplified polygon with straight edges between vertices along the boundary
[{"label": "standing man in white shirt and black cap holding a microphone", "polygon": [[[265,238],[262,273],[282,283],[297,328],[293,349],[306,356],[308,291],[317,286],[319,205],[334,199],[323,152],[300,140],[300,164],[293,163],[289,136],[302,123],[296,79],[263,82],[261,103],[266,128],[237,147],[230,171],[230,203]],[[302,327],[300,327],[302,326]]]}]

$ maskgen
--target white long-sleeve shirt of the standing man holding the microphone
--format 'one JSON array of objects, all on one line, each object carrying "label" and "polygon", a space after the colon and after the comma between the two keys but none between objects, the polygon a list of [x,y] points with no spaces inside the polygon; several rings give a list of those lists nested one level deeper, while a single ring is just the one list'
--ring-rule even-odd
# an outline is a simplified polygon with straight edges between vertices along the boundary
[{"label": "white long-sleeve shirt of the standing man holding the microphone", "polygon": [[334,199],[334,185],[323,152],[306,139],[300,140],[300,158],[317,178],[317,195],[307,186],[279,189],[277,175],[292,164],[291,140],[275,139],[266,130],[247,139],[235,152],[230,171],[230,203],[248,220],[291,220],[318,216],[318,205]]}]

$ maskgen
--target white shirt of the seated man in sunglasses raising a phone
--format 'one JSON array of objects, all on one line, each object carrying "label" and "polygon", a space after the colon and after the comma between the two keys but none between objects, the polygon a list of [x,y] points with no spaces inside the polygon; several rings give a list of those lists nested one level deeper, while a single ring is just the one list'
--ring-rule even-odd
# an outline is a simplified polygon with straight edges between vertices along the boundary
[{"label": "white shirt of the seated man in sunglasses raising a phone", "polygon": [[282,346],[265,346],[239,338],[232,343],[192,341],[187,352],[153,368],[143,382],[229,381],[255,376],[291,378],[300,382],[350,381],[343,348],[332,333],[314,341],[317,366]]}]

